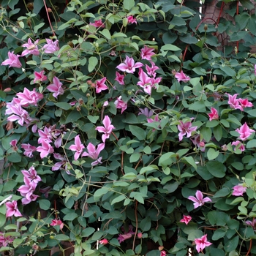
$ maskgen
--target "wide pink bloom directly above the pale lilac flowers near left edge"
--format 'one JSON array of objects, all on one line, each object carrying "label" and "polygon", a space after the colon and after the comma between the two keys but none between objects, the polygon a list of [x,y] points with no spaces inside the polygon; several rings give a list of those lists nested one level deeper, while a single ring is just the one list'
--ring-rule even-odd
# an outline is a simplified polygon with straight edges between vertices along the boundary
[{"label": "wide pink bloom directly above the pale lilac flowers near left edge", "polygon": [[28,107],[29,105],[37,106],[37,102],[43,99],[43,94],[40,94],[34,88],[33,91],[29,91],[29,89],[24,88],[23,92],[18,92],[16,94],[18,99],[20,99],[20,105],[23,107]]}]

